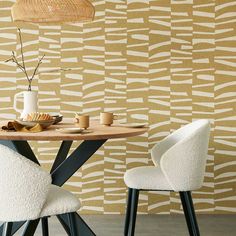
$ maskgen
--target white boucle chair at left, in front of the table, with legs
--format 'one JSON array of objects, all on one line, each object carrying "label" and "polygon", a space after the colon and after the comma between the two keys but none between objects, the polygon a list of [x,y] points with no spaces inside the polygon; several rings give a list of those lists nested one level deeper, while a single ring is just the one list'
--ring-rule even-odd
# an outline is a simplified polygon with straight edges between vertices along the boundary
[{"label": "white boucle chair at left, in front of the table, with legs", "polygon": [[[0,221],[4,235],[11,235],[12,223],[42,219],[48,235],[47,217],[68,214],[70,232],[78,236],[75,212],[80,201],[70,192],[51,184],[51,176],[34,162],[0,145]],[[27,236],[27,233],[23,233]]]}]

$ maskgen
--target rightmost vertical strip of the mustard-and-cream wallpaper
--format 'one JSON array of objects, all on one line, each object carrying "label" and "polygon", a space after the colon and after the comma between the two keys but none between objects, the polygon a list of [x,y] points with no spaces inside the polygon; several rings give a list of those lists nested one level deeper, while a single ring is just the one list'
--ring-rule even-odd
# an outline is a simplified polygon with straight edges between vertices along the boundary
[{"label": "rightmost vertical strip of the mustard-and-cream wallpaper", "polygon": [[[235,1],[216,1],[215,210],[235,212]],[[227,171],[226,171],[227,170]]]}]

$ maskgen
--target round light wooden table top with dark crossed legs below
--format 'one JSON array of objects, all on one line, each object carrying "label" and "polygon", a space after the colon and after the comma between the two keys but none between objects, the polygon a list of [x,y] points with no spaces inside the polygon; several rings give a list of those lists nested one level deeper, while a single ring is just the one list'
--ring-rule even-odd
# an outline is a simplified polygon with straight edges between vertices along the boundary
[{"label": "round light wooden table top with dark crossed legs below", "polygon": [[[7,124],[7,121],[0,121],[0,127]],[[90,121],[87,133],[65,134],[57,131],[59,128],[76,127],[72,119],[52,125],[39,133],[6,132],[0,130],[0,140],[38,140],[38,141],[63,141],[63,140],[102,140],[127,138],[138,136],[147,132],[148,128],[126,128],[119,125],[103,126],[99,121]]]}]

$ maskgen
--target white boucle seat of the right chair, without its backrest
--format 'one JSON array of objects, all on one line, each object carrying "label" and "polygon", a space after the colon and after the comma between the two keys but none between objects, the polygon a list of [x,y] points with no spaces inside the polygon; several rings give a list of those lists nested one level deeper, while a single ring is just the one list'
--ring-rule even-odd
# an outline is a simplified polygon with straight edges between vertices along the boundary
[{"label": "white boucle seat of the right chair, without its backrest", "polygon": [[173,190],[160,167],[145,166],[128,170],[124,176],[129,188],[143,190]]}]

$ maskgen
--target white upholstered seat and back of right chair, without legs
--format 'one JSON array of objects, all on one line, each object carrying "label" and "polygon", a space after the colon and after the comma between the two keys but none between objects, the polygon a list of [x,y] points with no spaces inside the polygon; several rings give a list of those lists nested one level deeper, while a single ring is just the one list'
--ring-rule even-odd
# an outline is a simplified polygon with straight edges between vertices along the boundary
[{"label": "white upholstered seat and back of right chair, without legs", "polygon": [[[203,184],[210,134],[208,120],[188,124],[151,150],[155,167],[137,167],[125,173],[128,187],[191,191]],[[156,173],[154,173],[156,171]]]}]

